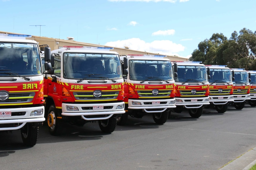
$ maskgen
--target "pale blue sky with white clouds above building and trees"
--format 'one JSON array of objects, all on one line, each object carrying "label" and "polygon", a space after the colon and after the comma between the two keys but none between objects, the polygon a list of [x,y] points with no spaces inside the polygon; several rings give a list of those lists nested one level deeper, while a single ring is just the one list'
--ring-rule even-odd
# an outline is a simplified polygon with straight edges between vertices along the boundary
[{"label": "pale blue sky with white clouds above building and trees", "polygon": [[256,31],[255,0],[0,0],[0,9],[0,31],[184,58],[214,33]]}]

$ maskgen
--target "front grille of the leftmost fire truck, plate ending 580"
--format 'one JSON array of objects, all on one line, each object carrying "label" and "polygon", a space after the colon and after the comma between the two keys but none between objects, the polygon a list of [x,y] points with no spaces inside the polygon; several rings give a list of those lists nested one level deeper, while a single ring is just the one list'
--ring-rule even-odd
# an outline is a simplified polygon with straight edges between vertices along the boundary
[{"label": "front grille of the leftmost fire truck, plate ending 580", "polygon": [[29,93],[9,93],[6,92],[9,95],[9,98],[7,100],[1,100],[0,104],[4,103],[27,103],[31,102],[35,96],[35,92],[29,92]]}]

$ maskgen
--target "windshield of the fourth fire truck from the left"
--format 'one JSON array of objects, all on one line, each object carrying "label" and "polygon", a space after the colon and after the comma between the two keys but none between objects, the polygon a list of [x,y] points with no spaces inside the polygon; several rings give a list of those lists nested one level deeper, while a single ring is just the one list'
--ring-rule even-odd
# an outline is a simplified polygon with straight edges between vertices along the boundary
[{"label": "windshield of the fourth fire truck from the left", "polygon": [[176,82],[207,82],[207,72],[204,66],[179,66]]}]

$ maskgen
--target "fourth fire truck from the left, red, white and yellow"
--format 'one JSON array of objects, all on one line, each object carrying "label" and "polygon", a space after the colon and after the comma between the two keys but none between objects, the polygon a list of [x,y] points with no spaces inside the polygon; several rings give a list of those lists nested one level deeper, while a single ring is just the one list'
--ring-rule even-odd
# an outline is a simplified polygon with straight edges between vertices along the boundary
[{"label": "fourth fire truck from the left, red, white and yellow", "polygon": [[198,118],[203,106],[209,105],[209,69],[201,61],[173,61],[177,113],[186,108],[191,117]]}]

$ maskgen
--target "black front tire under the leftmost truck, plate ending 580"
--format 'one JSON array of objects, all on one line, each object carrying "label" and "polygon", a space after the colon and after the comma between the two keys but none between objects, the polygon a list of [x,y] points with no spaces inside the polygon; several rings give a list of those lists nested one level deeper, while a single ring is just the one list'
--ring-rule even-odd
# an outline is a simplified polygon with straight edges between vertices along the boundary
[{"label": "black front tire under the leftmost truck, plate ending 580", "polygon": [[20,129],[21,137],[24,145],[34,146],[37,143],[39,127],[31,123],[26,123]]}]

